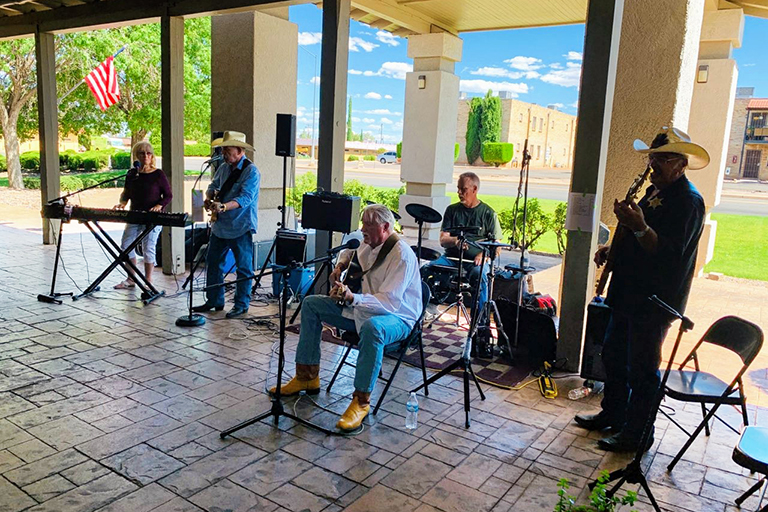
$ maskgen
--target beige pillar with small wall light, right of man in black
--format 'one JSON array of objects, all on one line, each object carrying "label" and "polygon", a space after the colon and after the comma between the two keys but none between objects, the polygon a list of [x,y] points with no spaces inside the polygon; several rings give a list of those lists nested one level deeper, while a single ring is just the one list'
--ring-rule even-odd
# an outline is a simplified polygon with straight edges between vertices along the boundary
[{"label": "beige pillar with small wall light, right of man in black", "polygon": [[732,58],[733,48],[741,46],[744,11],[741,9],[707,10],[701,27],[701,44],[693,87],[688,134],[709,152],[704,169],[688,171],[688,177],[704,197],[707,219],[699,242],[696,271],[712,259],[717,222],[710,218],[712,208],[720,203],[723,175],[731,137],[738,69]]}]

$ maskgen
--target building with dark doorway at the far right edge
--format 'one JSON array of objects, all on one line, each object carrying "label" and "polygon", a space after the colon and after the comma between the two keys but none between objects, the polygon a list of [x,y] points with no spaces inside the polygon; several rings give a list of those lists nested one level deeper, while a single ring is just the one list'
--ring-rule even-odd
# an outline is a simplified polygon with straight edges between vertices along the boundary
[{"label": "building with dark doorway at the far right edge", "polygon": [[733,105],[726,176],[768,180],[768,98],[739,87]]}]

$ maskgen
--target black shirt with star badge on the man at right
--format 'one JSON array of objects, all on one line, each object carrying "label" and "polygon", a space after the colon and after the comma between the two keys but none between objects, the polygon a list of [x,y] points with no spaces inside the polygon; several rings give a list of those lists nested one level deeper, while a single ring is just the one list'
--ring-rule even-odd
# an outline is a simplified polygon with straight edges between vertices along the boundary
[{"label": "black shirt with star badge on the man at right", "polygon": [[656,254],[647,253],[631,231],[615,248],[606,303],[622,313],[654,313],[651,295],[681,313],[688,301],[704,226],[704,199],[685,175],[651,198],[655,190],[648,187],[638,206],[658,235]]}]

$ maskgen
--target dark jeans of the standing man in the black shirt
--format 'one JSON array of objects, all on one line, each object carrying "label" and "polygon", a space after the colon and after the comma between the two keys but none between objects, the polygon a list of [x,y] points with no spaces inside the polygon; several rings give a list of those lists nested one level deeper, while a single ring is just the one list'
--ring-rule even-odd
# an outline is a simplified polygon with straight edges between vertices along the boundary
[{"label": "dark jeans of the standing man in the black shirt", "polygon": [[603,411],[630,438],[639,438],[661,383],[661,345],[669,323],[655,315],[614,311],[605,331]]}]

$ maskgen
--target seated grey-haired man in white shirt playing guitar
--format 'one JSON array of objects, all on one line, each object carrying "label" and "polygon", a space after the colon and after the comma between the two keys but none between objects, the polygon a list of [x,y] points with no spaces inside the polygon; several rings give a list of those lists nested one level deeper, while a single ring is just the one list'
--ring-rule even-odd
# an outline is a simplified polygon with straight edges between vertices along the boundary
[{"label": "seated grey-haired man in white shirt playing guitar", "polygon": [[[360,427],[370,410],[370,397],[381,369],[384,347],[405,338],[421,313],[421,278],[416,255],[394,232],[395,219],[386,206],[363,210],[363,243],[355,251],[362,290],[339,281],[350,259],[331,273],[329,297],[304,299],[301,334],[296,349],[296,376],[281,388],[283,395],[320,392],[320,335],[322,323],[360,336],[352,402],[336,425],[341,430]],[[350,269],[350,274],[354,271]],[[275,388],[271,389],[274,392]]]}]

